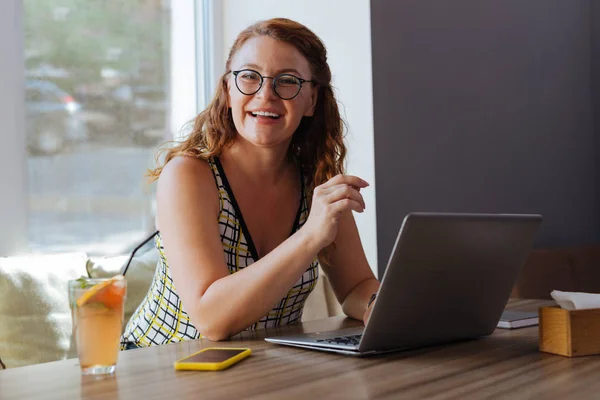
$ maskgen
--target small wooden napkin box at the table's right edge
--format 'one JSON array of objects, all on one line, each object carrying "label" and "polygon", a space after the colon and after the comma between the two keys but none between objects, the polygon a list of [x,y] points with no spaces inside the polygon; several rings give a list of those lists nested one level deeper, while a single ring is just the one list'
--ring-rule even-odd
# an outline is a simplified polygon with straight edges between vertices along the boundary
[{"label": "small wooden napkin box at the table's right edge", "polygon": [[600,308],[539,310],[540,351],[567,357],[600,354]]}]

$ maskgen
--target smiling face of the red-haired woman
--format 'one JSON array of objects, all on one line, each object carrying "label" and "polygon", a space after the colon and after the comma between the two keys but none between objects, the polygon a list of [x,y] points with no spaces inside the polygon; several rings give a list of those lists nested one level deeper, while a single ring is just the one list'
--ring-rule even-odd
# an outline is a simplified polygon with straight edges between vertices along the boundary
[{"label": "smiling face of the red-haired woman", "polygon": [[[244,43],[231,60],[231,70],[252,69],[263,77],[286,73],[311,79],[306,58],[292,45],[268,36],[256,36]],[[238,79],[242,79],[240,76]],[[317,90],[304,83],[291,100],[283,100],[273,91],[273,79],[263,79],[260,90],[252,95],[241,93],[233,73],[228,77],[228,98],[237,132],[259,147],[281,146],[287,149],[292,135],[304,116],[312,116]],[[265,113],[267,113],[265,115]]]}]

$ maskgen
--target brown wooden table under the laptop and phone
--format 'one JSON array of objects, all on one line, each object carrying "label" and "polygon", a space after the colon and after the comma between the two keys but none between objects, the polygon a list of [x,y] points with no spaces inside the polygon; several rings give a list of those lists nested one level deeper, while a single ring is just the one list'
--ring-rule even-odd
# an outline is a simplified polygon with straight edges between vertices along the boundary
[{"label": "brown wooden table under the laptop and phone", "polygon": [[[508,308],[534,310],[548,303],[511,301]],[[0,399],[600,398],[600,356],[541,353],[537,327],[369,358],[262,340],[354,324],[334,317],[243,333],[219,345],[250,347],[252,356],[220,372],[173,369],[175,360],[214,345],[206,340],[123,352],[116,375],[104,379],[81,376],[77,360],[8,369],[0,371]]]}]

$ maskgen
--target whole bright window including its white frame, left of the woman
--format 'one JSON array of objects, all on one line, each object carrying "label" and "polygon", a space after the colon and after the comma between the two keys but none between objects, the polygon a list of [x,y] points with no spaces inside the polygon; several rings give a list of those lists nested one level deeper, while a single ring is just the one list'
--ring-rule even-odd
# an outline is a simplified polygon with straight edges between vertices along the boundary
[{"label": "whole bright window including its white frame, left of the woman", "polygon": [[11,119],[0,132],[0,166],[11,172],[0,178],[0,219],[13,227],[0,233],[0,256],[123,253],[154,229],[144,174],[204,106],[204,9],[201,0],[0,3],[0,50],[16,56],[0,67],[9,106],[0,114]]}]

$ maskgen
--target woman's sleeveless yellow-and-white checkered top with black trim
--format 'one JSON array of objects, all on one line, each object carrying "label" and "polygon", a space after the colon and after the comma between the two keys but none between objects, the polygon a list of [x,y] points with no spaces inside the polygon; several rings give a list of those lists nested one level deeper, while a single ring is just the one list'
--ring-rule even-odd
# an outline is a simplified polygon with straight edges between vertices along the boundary
[{"label": "woman's sleeveless yellow-and-white checkered top with black trim", "polygon": [[[223,254],[233,274],[258,260],[252,238],[248,233],[242,214],[218,158],[208,161],[219,190],[219,231]],[[304,225],[308,218],[308,201],[302,179],[302,199],[291,234]],[[171,279],[160,233],[155,239],[160,260],[146,297],[125,327],[121,337],[121,349],[134,345],[147,347],[159,344],[198,339],[201,333],[194,327],[186,313]],[[298,279],[286,296],[259,321],[246,330],[270,328],[300,321],[306,298],[318,279],[318,262],[315,259]]]}]

